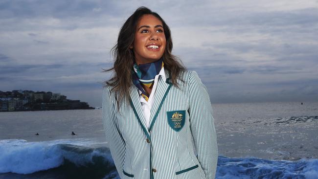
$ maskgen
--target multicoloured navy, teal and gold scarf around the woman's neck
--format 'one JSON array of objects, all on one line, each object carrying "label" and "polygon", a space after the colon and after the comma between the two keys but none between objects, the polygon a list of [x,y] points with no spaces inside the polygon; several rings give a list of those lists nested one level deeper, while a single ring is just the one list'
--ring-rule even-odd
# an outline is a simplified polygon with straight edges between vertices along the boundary
[{"label": "multicoloured navy, teal and gold scarf around the woman's neck", "polygon": [[147,64],[134,64],[132,78],[134,85],[141,91],[141,96],[146,101],[149,99],[149,94],[142,88],[142,85],[152,89],[155,82],[155,76],[159,74],[163,67],[163,58],[158,61]]}]

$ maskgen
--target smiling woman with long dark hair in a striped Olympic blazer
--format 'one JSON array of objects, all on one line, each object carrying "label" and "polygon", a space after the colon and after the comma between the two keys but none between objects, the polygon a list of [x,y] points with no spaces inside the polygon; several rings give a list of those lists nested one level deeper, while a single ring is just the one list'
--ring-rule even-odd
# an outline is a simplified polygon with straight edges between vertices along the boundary
[{"label": "smiling woman with long dark hair in a striped Olympic blazer", "polygon": [[170,29],[139,7],[112,49],[106,139],[121,179],[214,179],[217,143],[205,86],[171,54]]}]

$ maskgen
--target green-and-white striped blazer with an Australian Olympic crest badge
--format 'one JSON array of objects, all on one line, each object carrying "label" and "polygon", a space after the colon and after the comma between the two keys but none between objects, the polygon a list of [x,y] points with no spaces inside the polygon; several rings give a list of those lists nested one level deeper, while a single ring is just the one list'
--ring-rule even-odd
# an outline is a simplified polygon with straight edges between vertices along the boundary
[{"label": "green-and-white striped blazer with an Australian Olympic crest badge", "polygon": [[218,149],[209,95],[195,71],[181,73],[179,88],[159,76],[150,126],[139,91],[117,108],[111,87],[103,92],[106,141],[121,179],[214,179]]}]

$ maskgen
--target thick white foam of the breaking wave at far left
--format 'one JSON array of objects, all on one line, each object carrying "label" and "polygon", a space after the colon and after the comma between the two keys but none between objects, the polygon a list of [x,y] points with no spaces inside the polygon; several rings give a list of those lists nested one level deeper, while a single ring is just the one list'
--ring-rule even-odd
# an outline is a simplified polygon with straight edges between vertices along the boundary
[{"label": "thick white foam of the breaking wave at far left", "polygon": [[16,139],[0,141],[0,173],[29,174],[62,163],[63,156],[57,145]]}]

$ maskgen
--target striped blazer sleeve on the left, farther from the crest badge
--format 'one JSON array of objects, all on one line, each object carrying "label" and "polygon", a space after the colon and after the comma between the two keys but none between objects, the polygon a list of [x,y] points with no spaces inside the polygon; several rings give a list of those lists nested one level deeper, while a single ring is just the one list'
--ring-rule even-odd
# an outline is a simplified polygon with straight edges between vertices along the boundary
[{"label": "striped blazer sleeve on the left, farther from the crest badge", "polygon": [[110,90],[106,87],[103,91],[102,117],[106,133],[106,142],[111,151],[119,177],[124,178],[123,167],[125,160],[125,141],[120,134],[117,120],[115,117],[115,104],[111,100]]}]

